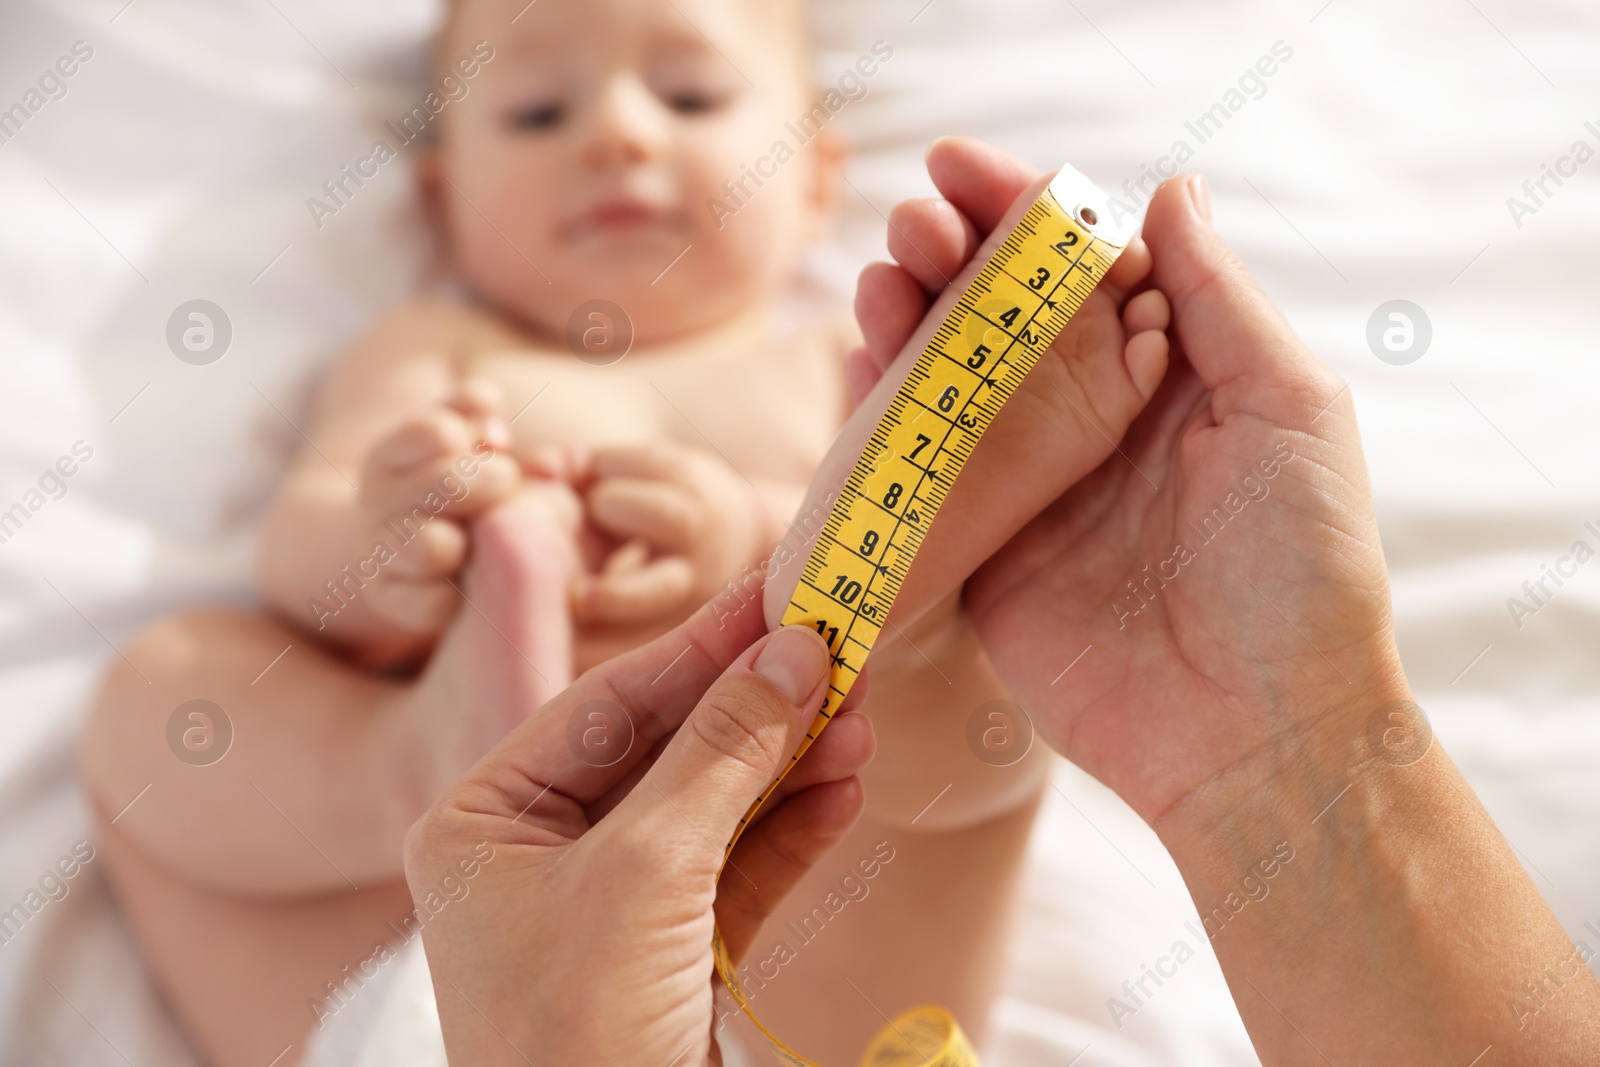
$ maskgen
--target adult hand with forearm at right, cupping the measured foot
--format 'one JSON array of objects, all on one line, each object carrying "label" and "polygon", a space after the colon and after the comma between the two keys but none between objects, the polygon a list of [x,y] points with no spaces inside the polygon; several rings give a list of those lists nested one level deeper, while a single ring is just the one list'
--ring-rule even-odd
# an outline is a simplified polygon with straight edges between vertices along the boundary
[{"label": "adult hand with forearm at right, cupping the measured foot", "polygon": [[[934,152],[992,203],[1027,189],[984,146]],[[923,232],[931,259],[963,248]],[[1592,952],[1410,702],[1347,389],[1211,229],[1203,182],[1163,186],[1144,238],[1171,368],[1117,454],[968,582],[1002,680],[1162,835],[1264,1062],[1594,1062]],[[906,341],[925,298],[874,285],[869,336]]]}]

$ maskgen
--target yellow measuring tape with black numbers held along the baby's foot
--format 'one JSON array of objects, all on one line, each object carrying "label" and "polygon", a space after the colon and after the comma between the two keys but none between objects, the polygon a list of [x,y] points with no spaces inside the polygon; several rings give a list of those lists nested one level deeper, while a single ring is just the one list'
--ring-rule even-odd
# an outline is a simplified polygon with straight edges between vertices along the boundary
[{"label": "yellow measuring tape with black numbers held along the baby's foot", "polygon": [[[784,625],[816,627],[834,649],[827,697],[794,758],[744,813],[728,853],[850,693],[922,539],[984,430],[1131,240],[1131,226],[1110,218],[1106,194],[1062,168],[962,293],[894,394],[782,617]],[[816,1067],[750,1011],[720,931],[712,949],[723,985],[778,1057]],[[950,1013],[914,1008],[890,1022],[861,1057],[861,1067],[899,1064],[978,1067],[978,1054]]]}]

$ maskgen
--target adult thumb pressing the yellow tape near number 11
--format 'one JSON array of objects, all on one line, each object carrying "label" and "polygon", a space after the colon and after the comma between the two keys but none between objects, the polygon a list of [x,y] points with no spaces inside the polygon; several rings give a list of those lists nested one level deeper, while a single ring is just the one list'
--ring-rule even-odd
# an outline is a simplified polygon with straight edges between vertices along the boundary
[{"label": "adult thumb pressing the yellow tape near number 11", "polygon": [[[816,630],[789,625],[739,656],[613,816],[643,817],[645,825],[691,845],[722,849],[762,792],[789,766],[806,737],[827,689],[830,653]],[[650,811],[624,813],[643,806]]]}]

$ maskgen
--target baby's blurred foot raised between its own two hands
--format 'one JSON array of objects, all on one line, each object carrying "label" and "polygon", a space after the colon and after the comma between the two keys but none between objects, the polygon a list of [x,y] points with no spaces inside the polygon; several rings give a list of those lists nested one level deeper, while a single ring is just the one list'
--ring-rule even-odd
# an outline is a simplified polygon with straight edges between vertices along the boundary
[{"label": "baby's blurred foot raised between its own two hands", "polygon": [[440,787],[571,683],[578,518],[568,486],[536,482],[472,523],[461,611],[405,707]]}]

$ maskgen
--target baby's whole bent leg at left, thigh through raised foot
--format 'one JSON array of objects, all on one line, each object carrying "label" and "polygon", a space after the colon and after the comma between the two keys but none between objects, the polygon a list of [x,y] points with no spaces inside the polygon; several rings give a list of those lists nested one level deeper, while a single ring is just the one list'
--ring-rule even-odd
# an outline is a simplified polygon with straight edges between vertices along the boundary
[{"label": "baby's whole bent leg at left, thigh through raised foot", "polygon": [[[411,686],[229,613],[157,627],[128,649],[149,681],[126,664],[107,681],[83,752],[98,843],[205,1062],[262,1067],[286,1046],[282,1062],[296,1062],[320,1019],[374,995],[350,976],[371,977],[379,944],[416,929],[405,830],[566,685],[571,534],[555,518],[534,496],[475,523],[467,606]],[[165,742],[171,709],[195,696],[226,702],[234,721],[232,747],[210,766]]]}]

